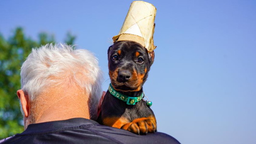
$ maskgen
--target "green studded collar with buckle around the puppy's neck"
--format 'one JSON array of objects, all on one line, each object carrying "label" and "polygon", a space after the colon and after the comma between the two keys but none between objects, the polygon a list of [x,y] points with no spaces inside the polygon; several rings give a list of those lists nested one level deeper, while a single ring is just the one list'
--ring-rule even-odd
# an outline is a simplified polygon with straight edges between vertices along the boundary
[{"label": "green studded collar with buckle around the puppy's neck", "polygon": [[115,96],[116,98],[126,102],[127,105],[135,105],[136,102],[139,102],[140,100],[142,100],[142,98],[144,97],[144,93],[141,93],[140,96],[137,96],[137,97],[131,97],[131,96],[126,96],[126,95],[123,95],[119,92],[117,92],[112,84],[110,84],[110,87],[109,87],[109,92],[112,96]]}]

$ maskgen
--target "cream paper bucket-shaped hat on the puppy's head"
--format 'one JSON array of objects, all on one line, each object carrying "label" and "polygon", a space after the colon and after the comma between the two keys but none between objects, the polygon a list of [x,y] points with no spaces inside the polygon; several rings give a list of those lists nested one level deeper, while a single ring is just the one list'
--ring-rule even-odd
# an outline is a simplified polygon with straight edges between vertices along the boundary
[{"label": "cream paper bucket-shaped hat on the puppy's head", "polygon": [[117,36],[113,36],[113,42],[131,40],[141,44],[149,52],[153,51],[153,34],[155,30],[155,16],[157,9],[145,1],[132,2],[122,29]]}]

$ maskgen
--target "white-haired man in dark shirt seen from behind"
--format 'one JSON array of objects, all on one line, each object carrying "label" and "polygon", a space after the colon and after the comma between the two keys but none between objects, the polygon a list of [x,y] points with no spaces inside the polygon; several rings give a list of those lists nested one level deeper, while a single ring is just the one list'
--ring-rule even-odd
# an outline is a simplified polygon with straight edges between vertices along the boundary
[{"label": "white-haired man in dark shirt seen from behind", "polygon": [[87,50],[67,45],[33,49],[21,67],[17,91],[25,131],[3,144],[179,144],[164,133],[136,135],[94,121],[102,79],[98,60]]}]

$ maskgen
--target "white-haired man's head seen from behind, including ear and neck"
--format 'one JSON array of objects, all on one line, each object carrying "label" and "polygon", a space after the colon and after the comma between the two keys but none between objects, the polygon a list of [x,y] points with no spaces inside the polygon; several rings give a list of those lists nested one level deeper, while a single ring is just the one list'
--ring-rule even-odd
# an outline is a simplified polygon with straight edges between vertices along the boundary
[{"label": "white-haired man's head seen from behind, including ear and neck", "polygon": [[85,49],[61,44],[33,49],[21,67],[17,91],[25,128],[58,114],[60,120],[87,118],[86,110],[88,119],[96,120],[102,79],[98,60]]}]

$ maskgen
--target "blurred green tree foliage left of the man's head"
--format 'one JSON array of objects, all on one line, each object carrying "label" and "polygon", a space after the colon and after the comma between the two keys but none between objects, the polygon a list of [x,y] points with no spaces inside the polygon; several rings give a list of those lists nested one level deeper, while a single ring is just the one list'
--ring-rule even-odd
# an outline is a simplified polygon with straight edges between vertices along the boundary
[{"label": "blurred green tree foliage left of the man's head", "polygon": [[[21,27],[7,40],[0,34],[0,139],[24,131],[16,91],[20,89],[20,68],[32,48],[54,43],[54,36],[40,33],[39,40],[24,35]],[[72,45],[75,36],[69,32],[65,43]]]}]

